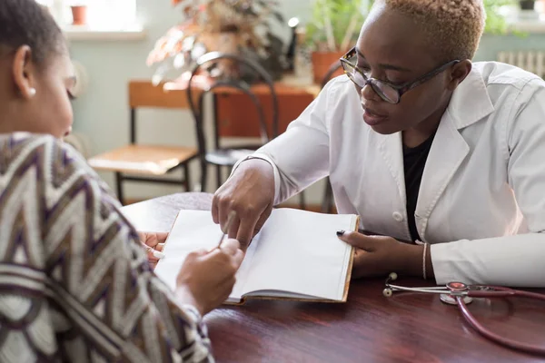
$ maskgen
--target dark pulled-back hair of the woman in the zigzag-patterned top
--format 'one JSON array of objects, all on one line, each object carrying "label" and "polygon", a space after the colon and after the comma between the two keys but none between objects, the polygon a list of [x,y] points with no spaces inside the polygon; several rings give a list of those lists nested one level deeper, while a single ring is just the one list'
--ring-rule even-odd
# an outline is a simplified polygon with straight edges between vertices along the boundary
[{"label": "dark pulled-back hair of the woman in the zigzag-patterned top", "polygon": [[32,49],[38,65],[65,51],[63,33],[45,6],[35,0],[0,0],[0,56],[22,45]]}]

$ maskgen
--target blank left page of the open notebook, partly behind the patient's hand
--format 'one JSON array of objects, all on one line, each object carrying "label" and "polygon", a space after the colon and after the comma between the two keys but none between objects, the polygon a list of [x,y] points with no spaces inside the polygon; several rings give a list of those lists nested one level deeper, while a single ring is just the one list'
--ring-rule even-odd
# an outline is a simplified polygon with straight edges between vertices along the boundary
[{"label": "blank left page of the open notebook, partly behind the patient's hand", "polygon": [[[213,222],[211,211],[180,211],[164,245],[165,257],[157,263],[155,274],[171,289],[175,289],[176,277],[187,255],[194,250],[217,247],[222,234],[220,226]],[[246,252],[228,301],[238,302],[241,299],[244,276],[256,247],[257,244]]]}]

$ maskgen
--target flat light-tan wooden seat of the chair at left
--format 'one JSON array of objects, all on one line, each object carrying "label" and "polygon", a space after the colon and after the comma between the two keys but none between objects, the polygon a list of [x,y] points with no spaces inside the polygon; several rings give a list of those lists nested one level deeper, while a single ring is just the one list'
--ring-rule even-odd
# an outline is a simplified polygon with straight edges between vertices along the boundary
[{"label": "flat light-tan wooden seat of the chair at left", "polygon": [[163,175],[198,155],[193,147],[127,145],[89,160],[96,170]]}]

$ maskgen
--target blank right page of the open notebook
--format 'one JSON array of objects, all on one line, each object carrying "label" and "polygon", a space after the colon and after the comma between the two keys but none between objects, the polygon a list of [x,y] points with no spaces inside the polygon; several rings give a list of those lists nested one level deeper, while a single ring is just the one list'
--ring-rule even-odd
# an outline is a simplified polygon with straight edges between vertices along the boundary
[{"label": "blank right page of the open notebook", "polygon": [[336,231],[352,231],[355,223],[353,215],[273,210],[257,236],[260,243],[243,292],[287,291],[341,300],[352,249]]}]

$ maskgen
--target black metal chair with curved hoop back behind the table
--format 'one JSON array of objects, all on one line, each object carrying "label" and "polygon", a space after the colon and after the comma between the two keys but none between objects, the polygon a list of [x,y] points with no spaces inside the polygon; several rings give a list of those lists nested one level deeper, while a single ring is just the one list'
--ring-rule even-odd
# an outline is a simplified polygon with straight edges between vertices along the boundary
[{"label": "black metal chair with curved hoop back behind the table", "polygon": [[[232,64],[235,64],[239,69],[245,68],[246,71],[250,71],[256,76],[256,78],[265,84],[268,88],[268,91],[271,94],[272,102],[272,127],[271,130],[268,130],[265,113],[263,111],[263,105],[259,100],[258,96],[253,92],[252,86],[250,83],[244,81],[243,79],[218,79],[215,80],[212,84],[209,84],[205,87],[199,95],[195,94],[195,89],[193,87],[193,79],[200,70],[203,70],[205,66],[213,66],[219,61],[230,61]],[[230,87],[235,90],[246,94],[256,108],[259,115],[259,130],[260,136],[262,139],[261,143],[252,143],[245,144],[243,146],[234,146],[234,147],[222,147],[220,142],[220,135],[218,132],[218,123],[213,123],[213,149],[207,150],[207,142],[204,135],[203,129],[203,101],[207,93],[212,93],[214,97],[214,104],[216,104],[216,97],[221,93],[214,92],[214,90],[220,87]],[[195,97],[196,96],[196,97]],[[274,83],[272,82],[271,76],[263,69],[260,64],[253,62],[253,60],[243,58],[236,54],[223,54],[219,52],[211,52],[201,56],[195,66],[189,82],[187,84],[187,100],[190,104],[191,111],[193,113],[193,118],[195,121],[195,127],[197,130],[198,145],[199,145],[199,156],[201,160],[201,188],[202,191],[205,190],[207,177],[208,177],[208,168],[207,166],[212,164],[215,165],[217,171],[217,187],[219,188],[222,184],[222,169],[223,167],[233,167],[233,165],[244,157],[250,155],[259,147],[263,146],[264,143],[270,142],[274,137],[278,136],[278,99],[276,92],[274,90]]]}]

